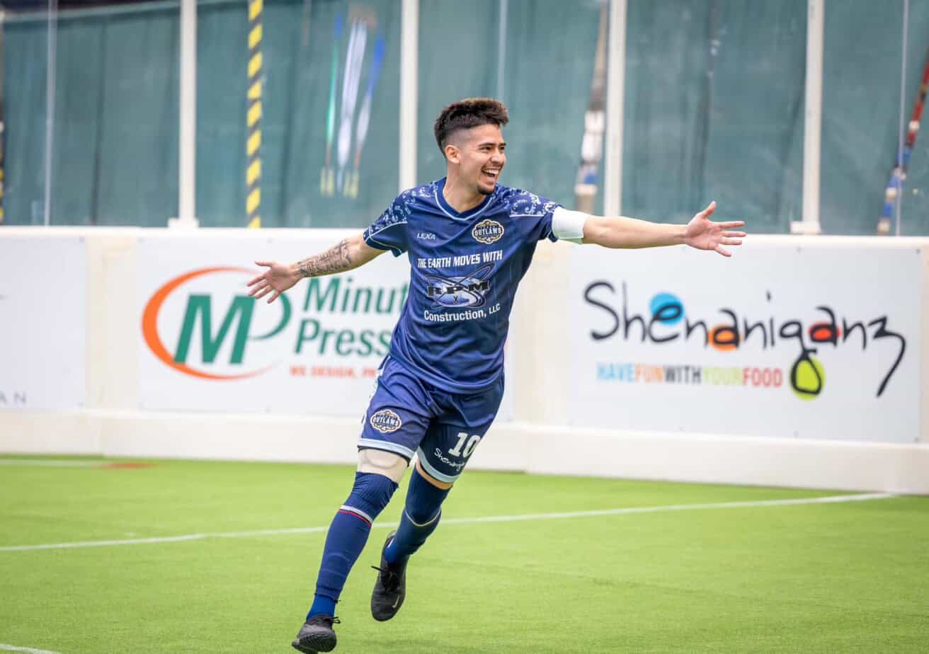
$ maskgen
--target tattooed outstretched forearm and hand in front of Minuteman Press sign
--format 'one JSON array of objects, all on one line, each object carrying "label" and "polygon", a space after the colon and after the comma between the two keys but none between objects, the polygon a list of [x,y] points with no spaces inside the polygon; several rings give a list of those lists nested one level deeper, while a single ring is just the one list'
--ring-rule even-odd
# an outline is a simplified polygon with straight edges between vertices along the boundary
[{"label": "tattooed outstretched forearm and hand in front of Minuteman Press sign", "polygon": [[305,277],[319,277],[345,272],[363,266],[384,250],[373,248],[364,242],[362,232],[349,236],[319,255],[307,256],[294,264],[281,264],[277,261],[255,261],[258,266],[268,269],[248,282],[251,286],[248,294],[256,300],[270,294],[268,303],[278,299],[278,295],[292,287]]}]

